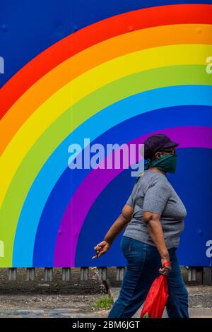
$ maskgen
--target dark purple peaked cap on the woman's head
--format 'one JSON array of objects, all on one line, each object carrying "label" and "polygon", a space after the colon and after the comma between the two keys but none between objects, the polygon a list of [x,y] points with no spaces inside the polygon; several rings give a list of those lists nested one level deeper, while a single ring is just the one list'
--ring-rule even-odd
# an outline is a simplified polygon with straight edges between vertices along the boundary
[{"label": "dark purple peaked cap on the woman's head", "polygon": [[173,142],[170,138],[164,134],[155,134],[146,139],[144,144],[144,158],[152,158],[156,152],[164,148],[175,148],[179,146],[178,143]]}]

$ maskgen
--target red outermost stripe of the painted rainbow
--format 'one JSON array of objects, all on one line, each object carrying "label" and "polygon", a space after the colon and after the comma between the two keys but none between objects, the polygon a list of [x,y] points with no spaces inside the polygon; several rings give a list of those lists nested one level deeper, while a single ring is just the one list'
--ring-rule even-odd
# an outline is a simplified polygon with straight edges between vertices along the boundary
[{"label": "red outermost stripe of the painted rainbow", "polygon": [[48,71],[92,45],[159,25],[212,24],[212,5],[182,4],[158,6],[112,16],[65,37],[25,64],[0,90],[0,118],[23,93]]}]

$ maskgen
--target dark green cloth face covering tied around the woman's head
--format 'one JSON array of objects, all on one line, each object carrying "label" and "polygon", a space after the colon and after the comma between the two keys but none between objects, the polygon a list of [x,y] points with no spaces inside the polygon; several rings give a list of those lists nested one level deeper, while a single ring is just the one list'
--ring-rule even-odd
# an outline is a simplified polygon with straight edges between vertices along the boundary
[{"label": "dark green cloth face covering tied around the woman's head", "polygon": [[144,164],[145,170],[149,167],[157,167],[158,170],[163,172],[175,173],[177,167],[177,155],[163,155],[161,158],[156,158],[154,160],[148,159]]}]

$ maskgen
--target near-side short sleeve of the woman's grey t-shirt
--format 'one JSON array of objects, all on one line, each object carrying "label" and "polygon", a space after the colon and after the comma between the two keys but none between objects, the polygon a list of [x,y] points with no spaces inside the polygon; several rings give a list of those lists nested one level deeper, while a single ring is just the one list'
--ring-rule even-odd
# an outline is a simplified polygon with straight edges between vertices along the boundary
[{"label": "near-side short sleeve of the woman's grey t-shirt", "polygon": [[161,215],[170,195],[170,187],[161,179],[154,179],[143,198],[143,212],[149,211]]}]

